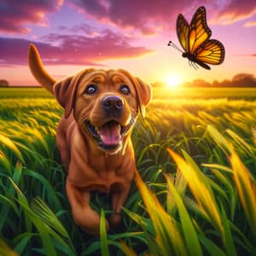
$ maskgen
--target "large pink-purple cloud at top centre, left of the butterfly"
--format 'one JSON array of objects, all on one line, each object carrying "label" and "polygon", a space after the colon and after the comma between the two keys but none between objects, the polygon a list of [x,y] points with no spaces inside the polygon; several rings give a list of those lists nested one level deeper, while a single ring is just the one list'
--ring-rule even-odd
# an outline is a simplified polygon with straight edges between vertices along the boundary
[{"label": "large pink-purple cloud at top centre, left of the butterfly", "polygon": [[[196,5],[195,5],[196,3]],[[170,26],[177,14],[199,6],[195,0],[75,0],[74,4],[96,20],[106,20],[121,28],[137,29],[143,34],[154,34],[157,27]]]}]

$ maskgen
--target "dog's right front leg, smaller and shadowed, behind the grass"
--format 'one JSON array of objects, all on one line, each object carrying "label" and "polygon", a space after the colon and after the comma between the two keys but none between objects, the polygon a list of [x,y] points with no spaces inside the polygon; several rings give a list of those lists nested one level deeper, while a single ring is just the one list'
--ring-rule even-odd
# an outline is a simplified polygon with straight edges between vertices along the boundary
[{"label": "dog's right front leg, smaller and shadowed, behind the grass", "polygon": [[131,188],[131,185],[127,184],[122,189],[113,190],[111,192],[112,193],[111,202],[112,202],[113,213],[111,214],[109,222],[113,227],[117,226],[122,219],[120,213],[129,195],[130,188]]}]

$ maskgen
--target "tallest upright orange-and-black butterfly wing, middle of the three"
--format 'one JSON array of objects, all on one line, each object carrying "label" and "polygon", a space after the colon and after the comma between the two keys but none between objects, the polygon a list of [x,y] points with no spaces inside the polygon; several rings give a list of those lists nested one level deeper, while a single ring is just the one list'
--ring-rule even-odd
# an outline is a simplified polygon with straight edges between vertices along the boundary
[{"label": "tallest upright orange-and-black butterfly wing, middle of the three", "polygon": [[212,35],[211,29],[207,26],[206,9],[201,6],[196,10],[189,26],[189,53],[194,55],[195,50]]}]

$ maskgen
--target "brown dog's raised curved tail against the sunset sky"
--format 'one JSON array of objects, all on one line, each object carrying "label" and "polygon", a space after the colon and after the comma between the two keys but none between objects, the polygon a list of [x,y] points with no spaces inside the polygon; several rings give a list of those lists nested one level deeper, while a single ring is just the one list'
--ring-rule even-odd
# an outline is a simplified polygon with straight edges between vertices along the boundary
[{"label": "brown dog's raised curved tail against the sunset sky", "polygon": [[53,85],[55,84],[55,79],[53,79],[49,73],[44,69],[43,63],[41,61],[40,55],[38,53],[38,49],[34,44],[30,44],[28,49],[28,63],[30,70],[38,80],[38,82],[46,89],[49,90],[51,94],[53,92]]}]

